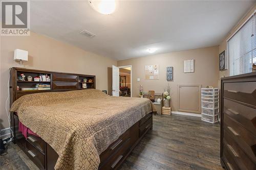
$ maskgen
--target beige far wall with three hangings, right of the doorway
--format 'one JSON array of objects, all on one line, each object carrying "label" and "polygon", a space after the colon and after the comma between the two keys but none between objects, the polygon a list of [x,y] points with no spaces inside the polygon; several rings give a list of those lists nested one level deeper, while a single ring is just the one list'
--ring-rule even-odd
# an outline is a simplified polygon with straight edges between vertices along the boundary
[{"label": "beige far wall with three hangings, right of the doorway", "polygon": [[[177,111],[177,85],[218,86],[219,79],[219,46],[199,48],[181,52],[153,55],[129,60],[117,61],[118,66],[132,65],[132,87],[133,96],[139,96],[139,85],[142,84],[143,91],[155,90],[156,93],[163,92],[163,88],[172,87],[172,108]],[[183,73],[183,60],[195,59],[195,72]],[[144,66],[159,65],[159,80],[145,80]],[[173,66],[173,81],[166,81],[166,66]],[[140,78],[140,82],[137,82]]]}]

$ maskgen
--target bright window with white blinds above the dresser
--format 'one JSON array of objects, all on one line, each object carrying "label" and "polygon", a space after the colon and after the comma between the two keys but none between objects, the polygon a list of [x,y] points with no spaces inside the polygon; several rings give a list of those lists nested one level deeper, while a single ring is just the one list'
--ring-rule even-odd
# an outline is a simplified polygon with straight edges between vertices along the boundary
[{"label": "bright window with white blinds above the dresser", "polygon": [[256,63],[256,15],[227,41],[227,54],[230,76],[251,72],[252,63]]}]

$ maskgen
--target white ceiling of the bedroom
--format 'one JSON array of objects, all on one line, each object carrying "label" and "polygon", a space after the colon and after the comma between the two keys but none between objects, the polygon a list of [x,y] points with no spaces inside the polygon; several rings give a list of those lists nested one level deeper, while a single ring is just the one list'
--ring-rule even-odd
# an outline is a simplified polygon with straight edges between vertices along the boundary
[{"label": "white ceiling of the bedroom", "polygon": [[[31,30],[115,60],[219,45],[255,1],[31,1]],[[87,30],[95,37],[80,34]],[[147,48],[158,50],[150,54]]]}]

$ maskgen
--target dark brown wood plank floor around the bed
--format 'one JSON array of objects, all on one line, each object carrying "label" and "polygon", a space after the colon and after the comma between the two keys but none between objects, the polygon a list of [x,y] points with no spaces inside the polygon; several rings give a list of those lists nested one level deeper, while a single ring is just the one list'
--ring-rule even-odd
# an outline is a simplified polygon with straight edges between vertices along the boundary
[{"label": "dark brown wood plank floor around the bed", "polygon": [[[16,145],[1,156],[1,169],[37,169]],[[17,154],[16,154],[17,153]],[[220,126],[200,117],[153,116],[148,132],[120,169],[223,169],[220,165]]]}]

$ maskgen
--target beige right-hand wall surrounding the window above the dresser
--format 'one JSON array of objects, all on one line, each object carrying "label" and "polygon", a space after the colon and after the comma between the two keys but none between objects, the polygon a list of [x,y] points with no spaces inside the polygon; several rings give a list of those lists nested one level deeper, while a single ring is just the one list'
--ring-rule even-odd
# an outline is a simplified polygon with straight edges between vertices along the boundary
[{"label": "beige right-hand wall surrounding the window above the dresser", "polygon": [[[230,30],[230,32],[227,34],[227,36],[224,38],[224,40],[220,43],[219,45],[219,54],[221,52],[223,52],[224,50],[227,50],[227,40],[233,35],[234,32],[236,32],[241,26],[242,24],[248,19],[248,17],[256,10],[256,5],[254,5],[254,7],[252,7],[252,9],[250,11],[248,11],[248,13],[241,18],[241,20],[238,22],[238,24],[232,29]],[[229,66],[228,66],[229,67]],[[218,80],[218,85],[220,87],[221,85],[221,78],[225,76],[228,77],[229,76],[229,72],[228,69],[224,70],[224,71],[220,71],[219,73],[219,80]]]}]

